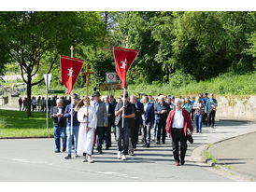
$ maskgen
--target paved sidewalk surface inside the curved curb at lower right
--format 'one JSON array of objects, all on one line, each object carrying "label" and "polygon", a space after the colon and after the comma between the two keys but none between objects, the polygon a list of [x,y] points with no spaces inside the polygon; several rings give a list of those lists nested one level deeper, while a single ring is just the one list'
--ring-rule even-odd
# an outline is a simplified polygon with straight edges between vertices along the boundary
[{"label": "paved sidewalk surface inside the curved curb at lower right", "polygon": [[217,164],[230,171],[249,176],[256,181],[256,132],[241,135],[214,144],[209,153],[217,159]]}]

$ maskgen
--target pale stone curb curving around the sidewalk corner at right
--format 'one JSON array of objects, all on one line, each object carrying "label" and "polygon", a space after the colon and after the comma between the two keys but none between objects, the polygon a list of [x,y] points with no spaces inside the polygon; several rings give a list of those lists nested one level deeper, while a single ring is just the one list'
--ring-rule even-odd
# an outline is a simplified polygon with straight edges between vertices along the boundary
[{"label": "pale stone curb curving around the sidewalk corner at right", "polygon": [[[251,132],[248,132],[248,133],[245,133],[245,134],[230,137],[230,138],[215,142],[213,144],[220,144],[222,142],[225,142],[225,141],[228,141],[228,140],[240,137],[240,136],[244,136],[244,135],[247,135],[247,134],[252,133],[252,132],[256,132],[256,131],[251,131]],[[237,172],[237,171],[232,171],[230,169],[225,168],[222,165],[219,165],[218,162],[215,163],[215,162],[212,162],[209,158],[206,158],[206,156],[205,156],[206,150],[209,149],[210,146],[212,146],[213,144],[204,144],[204,145],[201,145],[201,146],[196,147],[195,149],[193,149],[192,150],[192,155],[191,155],[192,160],[194,160],[195,163],[197,163],[197,164],[198,163],[206,163],[208,166],[210,166],[212,168],[218,166],[220,168],[220,170],[218,170],[218,171],[229,173],[233,177],[236,176],[237,181],[241,181],[241,180],[243,182],[254,182],[255,181],[255,178],[250,177],[249,175],[242,174],[242,173]],[[235,179],[235,178],[233,178],[233,179]]]}]

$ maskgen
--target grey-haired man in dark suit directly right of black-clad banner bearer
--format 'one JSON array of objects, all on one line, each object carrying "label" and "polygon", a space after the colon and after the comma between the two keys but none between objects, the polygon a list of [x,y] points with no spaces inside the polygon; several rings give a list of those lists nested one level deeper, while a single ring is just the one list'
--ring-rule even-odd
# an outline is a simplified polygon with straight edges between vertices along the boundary
[{"label": "grey-haired man in dark suit directly right of black-clad banner bearer", "polygon": [[[143,125],[142,115],[144,114],[143,103],[138,102],[138,98],[135,95],[131,96],[131,103],[135,104],[135,126],[133,133],[133,148],[136,148],[136,144],[138,142],[138,130],[139,126]],[[133,154],[131,154],[133,155]]]}]

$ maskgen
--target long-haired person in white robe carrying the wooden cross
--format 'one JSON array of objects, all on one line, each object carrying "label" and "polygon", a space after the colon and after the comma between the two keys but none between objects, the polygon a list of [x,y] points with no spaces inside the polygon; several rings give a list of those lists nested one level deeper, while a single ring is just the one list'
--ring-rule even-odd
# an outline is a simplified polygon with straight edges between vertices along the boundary
[{"label": "long-haired person in white robe carrying the wooden cross", "polygon": [[97,126],[96,111],[89,104],[89,99],[87,97],[83,98],[78,103],[75,110],[78,111],[78,121],[80,122],[78,132],[78,156],[84,156],[82,162],[88,161],[89,163],[92,163],[92,145],[94,140],[94,129],[96,129]]}]

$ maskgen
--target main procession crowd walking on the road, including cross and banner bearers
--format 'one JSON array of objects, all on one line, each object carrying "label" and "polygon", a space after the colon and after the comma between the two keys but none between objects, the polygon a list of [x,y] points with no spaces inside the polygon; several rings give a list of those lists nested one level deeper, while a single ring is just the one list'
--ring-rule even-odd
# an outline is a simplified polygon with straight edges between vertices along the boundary
[{"label": "main procession crowd walking on the road, including cross and banner bearers", "polygon": [[[87,102],[87,100],[90,101]],[[62,151],[67,149],[67,157],[65,158],[72,158],[71,145],[72,135],[74,135],[75,157],[83,156],[83,162],[91,163],[93,162],[94,148],[97,150],[97,154],[103,154],[103,150],[109,150],[112,147],[111,130],[113,128],[118,144],[117,158],[126,160],[127,155],[135,156],[139,135],[141,135],[142,146],[148,148],[153,141],[155,144],[165,144],[166,136],[172,135],[176,165],[179,165],[178,143],[181,144],[180,162],[183,165],[187,150],[187,145],[184,142],[187,134],[185,128],[192,132],[191,122],[193,120],[197,132],[202,132],[203,122],[214,128],[217,109],[217,101],[213,94],[210,94],[210,98],[207,97],[207,94],[205,97],[200,94],[197,99],[193,97],[191,100],[189,96],[184,99],[159,94],[158,97],[154,98],[143,94],[142,98],[138,98],[135,95],[129,96],[128,93],[125,93],[123,106],[122,95],[117,100],[112,95],[106,95],[100,99],[100,93],[95,91],[92,97],[84,97],[82,100],[79,100],[78,95],[74,94],[73,113],[70,103],[65,105],[62,99],[58,99],[56,103],[57,106],[54,106],[51,111],[51,117],[54,119],[55,152],[61,152],[60,139],[62,138]],[[91,113],[95,113],[92,114],[93,116],[90,116],[90,113],[87,114],[85,107],[87,103],[89,103]],[[73,116],[72,131],[71,116]],[[124,118],[124,122],[122,122],[122,118]],[[185,119],[184,122],[187,121],[186,124],[183,123],[183,119]],[[89,124],[91,127],[88,127]],[[170,125],[173,125],[173,130],[168,127]],[[80,130],[81,128],[82,130]],[[152,129],[151,138],[150,130]],[[173,135],[176,136],[173,137]],[[105,149],[103,149],[103,144],[106,145]]]}]

